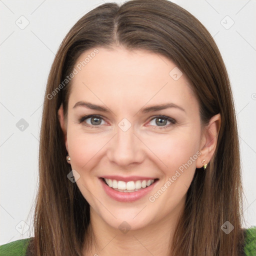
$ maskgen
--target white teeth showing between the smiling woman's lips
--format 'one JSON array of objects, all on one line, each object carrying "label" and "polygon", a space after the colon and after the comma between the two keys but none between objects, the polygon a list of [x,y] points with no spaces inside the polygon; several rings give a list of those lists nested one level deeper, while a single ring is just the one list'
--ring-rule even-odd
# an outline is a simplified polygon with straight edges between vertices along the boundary
[{"label": "white teeth showing between the smiling woman's lips", "polygon": [[153,184],[158,178],[155,179],[142,179],[136,181],[125,182],[123,180],[116,180],[110,178],[101,178],[106,185],[119,192],[135,192],[144,189]]}]

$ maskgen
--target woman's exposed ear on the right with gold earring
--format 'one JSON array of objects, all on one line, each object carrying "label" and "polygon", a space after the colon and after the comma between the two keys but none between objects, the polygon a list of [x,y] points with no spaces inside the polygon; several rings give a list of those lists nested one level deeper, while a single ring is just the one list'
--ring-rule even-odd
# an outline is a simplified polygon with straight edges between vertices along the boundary
[{"label": "woman's exposed ear on the right with gold earring", "polygon": [[[221,116],[216,114],[212,116],[206,127],[203,128],[201,143],[200,143],[200,157],[197,158],[196,168],[201,168],[208,163],[214,154],[217,145],[217,138],[220,129]],[[204,163],[202,163],[202,161]]]}]

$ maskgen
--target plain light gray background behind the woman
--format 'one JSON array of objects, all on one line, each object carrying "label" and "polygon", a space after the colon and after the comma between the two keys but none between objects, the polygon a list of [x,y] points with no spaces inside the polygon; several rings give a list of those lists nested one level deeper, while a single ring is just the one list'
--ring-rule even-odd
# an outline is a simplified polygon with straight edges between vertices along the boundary
[{"label": "plain light gray background behind the woman", "polygon": [[[54,54],[71,26],[103,2],[0,0],[0,244],[29,237],[32,229],[42,102]],[[226,64],[239,125],[243,226],[256,225],[256,1],[174,2],[205,25]],[[21,118],[28,123],[23,131],[16,126]]]}]

